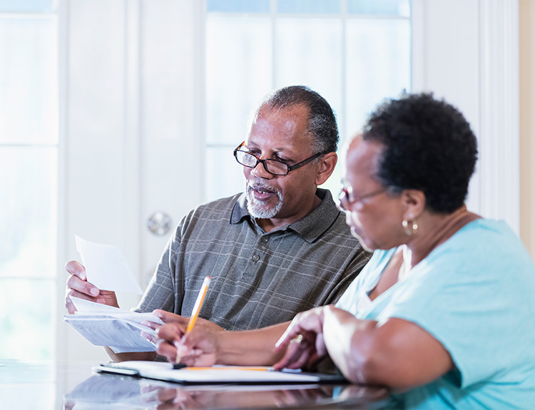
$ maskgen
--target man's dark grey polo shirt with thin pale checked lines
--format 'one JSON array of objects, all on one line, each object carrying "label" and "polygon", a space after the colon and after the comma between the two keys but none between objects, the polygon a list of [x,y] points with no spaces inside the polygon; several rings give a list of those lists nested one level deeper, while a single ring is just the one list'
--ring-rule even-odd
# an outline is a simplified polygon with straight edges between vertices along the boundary
[{"label": "man's dark grey polo shirt with thin pale checked lines", "polygon": [[205,276],[212,282],[200,317],[224,329],[257,329],[332,304],[370,255],[352,237],[330,192],[301,220],[264,232],[245,194],[200,205],[180,221],[137,312],[190,316]]}]

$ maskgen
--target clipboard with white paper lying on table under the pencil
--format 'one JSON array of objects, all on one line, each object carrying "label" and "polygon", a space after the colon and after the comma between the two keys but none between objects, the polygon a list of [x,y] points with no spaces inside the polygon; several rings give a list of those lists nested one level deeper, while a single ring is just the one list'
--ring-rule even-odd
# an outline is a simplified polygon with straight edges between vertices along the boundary
[{"label": "clipboard with white paper lying on table under the pencil", "polygon": [[143,377],[179,384],[346,384],[341,374],[308,373],[270,367],[213,366],[173,369],[168,362],[129,361],[93,367],[97,373]]}]

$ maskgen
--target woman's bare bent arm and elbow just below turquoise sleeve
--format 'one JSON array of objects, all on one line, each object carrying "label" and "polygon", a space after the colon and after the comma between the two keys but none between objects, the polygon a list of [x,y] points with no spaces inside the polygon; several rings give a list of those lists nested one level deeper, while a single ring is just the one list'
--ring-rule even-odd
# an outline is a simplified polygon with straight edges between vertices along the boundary
[{"label": "woman's bare bent arm and elbow just below turquoise sleeve", "polygon": [[437,339],[403,319],[379,325],[330,306],[324,312],[323,334],[332,361],[353,382],[410,389],[454,367]]}]

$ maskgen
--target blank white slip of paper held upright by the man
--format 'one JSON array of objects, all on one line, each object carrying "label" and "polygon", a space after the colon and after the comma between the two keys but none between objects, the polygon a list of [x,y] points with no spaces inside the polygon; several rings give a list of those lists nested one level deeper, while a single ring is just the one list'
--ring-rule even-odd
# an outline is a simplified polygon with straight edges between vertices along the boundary
[{"label": "blank white slip of paper held upright by the man", "polygon": [[118,247],[75,238],[88,282],[102,290],[143,294]]}]

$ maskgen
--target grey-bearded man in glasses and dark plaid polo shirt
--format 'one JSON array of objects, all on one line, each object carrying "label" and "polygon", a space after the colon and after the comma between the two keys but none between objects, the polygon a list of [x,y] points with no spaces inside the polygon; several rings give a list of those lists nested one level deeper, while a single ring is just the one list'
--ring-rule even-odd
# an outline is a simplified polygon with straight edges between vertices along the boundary
[{"label": "grey-bearded man in glasses and dark plaid polo shirt", "polygon": [[[210,327],[258,329],[336,302],[369,257],[329,191],[317,188],[335,168],[338,140],[332,108],[315,91],[291,86],[267,96],[234,151],[245,193],[200,205],[180,221],[136,311],[162,309],[164,322],[183,321],[208,275],[200,317]],[[117,306],[113,292],[86,282],[78,262],[66,269],[69,312],[71,296]]]}]

